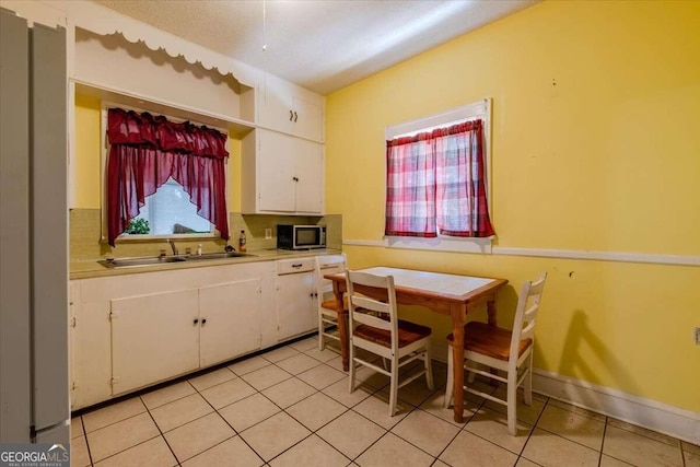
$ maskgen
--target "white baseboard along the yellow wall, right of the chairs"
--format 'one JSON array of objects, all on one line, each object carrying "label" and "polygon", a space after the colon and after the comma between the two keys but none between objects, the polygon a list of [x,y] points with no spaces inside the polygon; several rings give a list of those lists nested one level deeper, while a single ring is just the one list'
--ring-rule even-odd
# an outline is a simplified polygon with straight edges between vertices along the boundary
[{"label": "white baseboard along the yellow wall, right of the chairs", "polygon": [[533,390],[594,412],[700,444],[700,413],[535,369]]}]

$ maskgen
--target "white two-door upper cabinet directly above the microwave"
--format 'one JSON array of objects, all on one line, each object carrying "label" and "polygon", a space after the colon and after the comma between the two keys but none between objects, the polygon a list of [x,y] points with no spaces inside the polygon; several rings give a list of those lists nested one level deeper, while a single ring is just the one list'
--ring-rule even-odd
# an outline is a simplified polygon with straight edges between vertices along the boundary
[{"label": "white two-door upper cabinet directly above the microwave", "polygon": [[244,213],[324,213],[324,147],[276,131],[243,140]]}]

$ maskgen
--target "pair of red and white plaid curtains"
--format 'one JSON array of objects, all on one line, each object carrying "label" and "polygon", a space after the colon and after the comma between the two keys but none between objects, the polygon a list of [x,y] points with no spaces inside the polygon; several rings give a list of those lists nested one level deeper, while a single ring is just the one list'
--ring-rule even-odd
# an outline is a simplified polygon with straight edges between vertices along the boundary
[{"label": "pair of red and white plaid curtains", "polygon": [[386,235],[493,235],[485,175],[481,120],[387,141]]}]

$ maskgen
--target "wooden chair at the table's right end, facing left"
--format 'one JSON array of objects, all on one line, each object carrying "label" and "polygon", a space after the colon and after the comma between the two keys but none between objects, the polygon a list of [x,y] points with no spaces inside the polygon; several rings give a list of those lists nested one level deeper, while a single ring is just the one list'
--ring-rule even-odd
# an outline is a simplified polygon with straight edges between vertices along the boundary
[{"label": "wooden chair at the table's right end, facing left", "polygon": [[[471,322],[464,327],[464,367],[469,372],[469,383],[474,383],[475,374],[480,374],[508,385],[506,398],[501,399],[490,394],[482,393],[468,386],[464,389],[493,400],[508,407],[508,432],[516,434],[516,394],[523,385],[525,392],[525,405],[533,401],[533,348],[535,347],[535,325],[537,324],[537,311],[545,288],[547,273],[542,272],[536,281],[527,281],[523,284],[515,311],[513,330],[489,326],[485,323]],[[450,346],[453,345],[452,334],[447,336]],[[483,371],[478,364],[500,370],[506,373],[503,377],[497,372]],[[448,408],[453,397],[453,370],[454,358],[450,349],[447,358],[447,387],[445,390],[444,407]]]}]

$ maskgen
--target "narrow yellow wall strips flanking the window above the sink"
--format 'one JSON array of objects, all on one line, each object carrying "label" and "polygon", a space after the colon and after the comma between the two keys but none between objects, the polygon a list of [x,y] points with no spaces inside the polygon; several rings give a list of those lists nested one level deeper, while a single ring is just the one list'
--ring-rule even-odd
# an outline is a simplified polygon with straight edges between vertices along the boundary
[{"label": "narrow yellow wall strips flanking the window above the sink", "polygon": [[[75,96],[75,200],[72,208],[101,209],[101,101]],[[229,212],[241,211],[241,141],[229,138]]]}]

